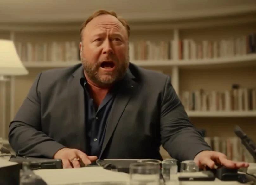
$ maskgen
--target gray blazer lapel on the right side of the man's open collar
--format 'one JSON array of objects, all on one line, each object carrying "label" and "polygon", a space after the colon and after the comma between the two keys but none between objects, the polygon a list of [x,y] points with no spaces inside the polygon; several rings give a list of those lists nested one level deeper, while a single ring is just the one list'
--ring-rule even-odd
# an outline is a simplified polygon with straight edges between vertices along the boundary
[{"label": "gray blazer lapel on the right side of the man's open collar", "polygon": [[106,149],[106,146],[110,138],[112,137],[112,134],[123,112],[125,111],[125,107],[127,106],[129,100],[131,99],[132,94],[137,92],[137,88],[139,85],[137,82],[132,80],[134,78],[135,77],[132,75],[130,70],[128,70],[125,78],[123,79],[124,81],[120,83],[120,87],[118,86],[118,92],[113,102],[112,109],[106,123],[106,132],[99,158],[101,158],[104,150]]}]

